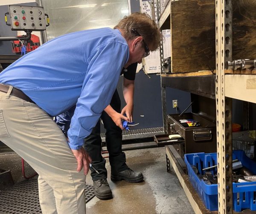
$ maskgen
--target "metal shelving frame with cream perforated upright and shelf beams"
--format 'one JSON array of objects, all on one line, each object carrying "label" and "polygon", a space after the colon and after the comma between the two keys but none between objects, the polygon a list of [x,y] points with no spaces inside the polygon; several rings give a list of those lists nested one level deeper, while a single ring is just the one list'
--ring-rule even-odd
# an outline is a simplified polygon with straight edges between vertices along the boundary
[{"label": "metal shelving frame with cream perforated upright and shelf beams", "polygon": [[[160,29],[170,29],[171,2],[159,17]],[[175,170],[178,179],[196,214],[232,214],[232,98],[256,103],[256,75],[225,74],[225,62],[232,60],[232,1],[215,1],[215,56],[216,72],[211,76],[169,77],[161,74],[164,132],[169,133],[166,120],[165,88],[172,87],[216,100],[217,154],[218,154],[218,211],[208,211],[180,167],[183,164],[173,146],[166,146],[167,170]],[[229,26],[225,28],[223,26]],[[169,26],[169,28],[168,28]],[[229,43],[226,43],[229,39]],[[225,54],[225,53],[229,54]],[[205,82],[207,81],[207,82]],[[184,84],[193,82],[195,84]],[[183,83],[183,84],[180,84]],[[201,84],[207,83],[207,84]],[[207,86],[207,88],[205,88]],[[181,163],[181,164],[180,164]],[[243,213],[256,213],[244,210]]]}]

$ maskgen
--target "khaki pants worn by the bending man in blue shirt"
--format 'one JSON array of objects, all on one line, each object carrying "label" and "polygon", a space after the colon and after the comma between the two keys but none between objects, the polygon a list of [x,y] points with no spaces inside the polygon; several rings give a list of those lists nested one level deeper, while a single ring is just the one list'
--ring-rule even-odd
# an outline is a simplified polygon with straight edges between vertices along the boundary
[{"label": "khaki pants worn by the bending man in blue shirt", "polygon": [[39,174],[43,214],[85,214],[85,175],[66,137],[34,103],[0,91],[0,140]]}]

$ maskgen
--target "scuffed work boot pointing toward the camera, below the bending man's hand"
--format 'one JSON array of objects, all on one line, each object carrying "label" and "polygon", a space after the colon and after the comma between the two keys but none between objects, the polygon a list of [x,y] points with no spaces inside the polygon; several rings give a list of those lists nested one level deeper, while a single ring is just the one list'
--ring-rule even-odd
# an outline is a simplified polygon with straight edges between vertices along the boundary
[{"label": "scuffed work boot pointing toward the camera, below the bending man's hand", "polygon": [[108,185],[108,181],[105,178],[93,181],[94,192],[99,199],[110,199],[112,198],[112,191]]}]

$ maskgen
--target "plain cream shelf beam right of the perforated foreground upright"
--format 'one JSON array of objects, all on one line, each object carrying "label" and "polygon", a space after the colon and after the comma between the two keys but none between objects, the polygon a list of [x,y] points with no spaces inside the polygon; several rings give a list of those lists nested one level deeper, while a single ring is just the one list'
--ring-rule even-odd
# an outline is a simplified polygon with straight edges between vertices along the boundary
[{"label": "plain cream shelf beam right of the perforated foreground upright", "polygon": [[226,74],[225,96],[256,103],[256,75]]}]

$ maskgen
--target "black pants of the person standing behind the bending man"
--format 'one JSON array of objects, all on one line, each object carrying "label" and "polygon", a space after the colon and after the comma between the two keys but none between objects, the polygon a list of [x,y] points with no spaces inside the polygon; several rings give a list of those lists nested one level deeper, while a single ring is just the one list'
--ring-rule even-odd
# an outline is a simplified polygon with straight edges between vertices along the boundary
[{"label": "black pants of the person standing behind the bending man", "polygon": [[[117,90],[114,92],[111,107],[121,112],[121,101]],[[106,144],[109,153],[109,163],[111,165],[111,173],[124,171],[128,168],[126,165],[125,153],[122,152],[122,130],[116,126],[111,117],[103,111],[101,119],[106,129]],[[102,157],[102,140],[100,137],[100,121],[93,128],[92,133],[85,138],[84,149],[89,153],[92,158],[92,165],[99,171],[91,171],[93,180],[107,178],[107,169],[105,168],[106,160]]]}]

